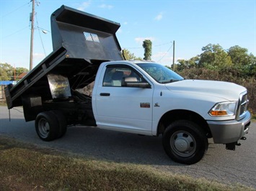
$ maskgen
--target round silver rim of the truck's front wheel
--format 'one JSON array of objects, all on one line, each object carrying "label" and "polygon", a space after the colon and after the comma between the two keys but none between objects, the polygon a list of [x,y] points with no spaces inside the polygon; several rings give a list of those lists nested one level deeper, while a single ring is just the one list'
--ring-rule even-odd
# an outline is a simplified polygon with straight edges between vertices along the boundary
[{"label": "round silver rim of the truck's front wheel", "polygon": [[180,157],[190,157],[196,149],[195,138],[187,131],[177,131],[172,134],[170,145],[172,151]]}]

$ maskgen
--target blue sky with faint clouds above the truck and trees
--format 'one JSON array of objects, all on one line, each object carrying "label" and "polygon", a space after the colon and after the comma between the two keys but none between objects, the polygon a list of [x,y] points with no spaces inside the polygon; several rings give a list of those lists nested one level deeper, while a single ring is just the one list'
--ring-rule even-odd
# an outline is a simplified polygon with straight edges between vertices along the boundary
[{"label": "blue sky with faint clouds above the truck and trees", "polygon": [[[144,39],[151,39],[151,59],[163,65],[172,65],[173,40],[175,60],[200,55],[209,43],[256,55],[255,0],[37,0],[34,67],[53,50],[50,14],[62,4],[119,22],[120,46],[137,57],[144,57]],[[29,68],[31,10],[30,0],[0,0],[0,62]]]}]

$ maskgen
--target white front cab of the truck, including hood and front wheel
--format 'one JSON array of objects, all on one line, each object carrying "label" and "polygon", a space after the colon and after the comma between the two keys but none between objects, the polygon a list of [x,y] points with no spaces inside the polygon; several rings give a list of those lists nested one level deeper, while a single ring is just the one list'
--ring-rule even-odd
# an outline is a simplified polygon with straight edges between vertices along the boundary
[{"label": "white front cab of the truck, including hood and front wheel", "polygon": [[169,157],[185,164],[203,157],[208,138],[226,149],[239,145],[250,126],[247,103],[240,85],[185,80],[155,62],[103,62],[92,93],[98,127],[161,134]]}]

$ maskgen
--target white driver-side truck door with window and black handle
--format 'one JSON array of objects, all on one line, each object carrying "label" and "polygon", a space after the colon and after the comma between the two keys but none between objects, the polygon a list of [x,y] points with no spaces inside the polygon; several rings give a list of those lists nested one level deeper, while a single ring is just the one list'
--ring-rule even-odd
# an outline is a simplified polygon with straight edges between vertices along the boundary
[{"label": "white driver-side truck door with window and black handle", "polygon": [[125,82],[145,81],[133,67],[108,65],[94,95],[94,116],[97,125],[107,129],[151,135],[154,88],[125,86]]}]

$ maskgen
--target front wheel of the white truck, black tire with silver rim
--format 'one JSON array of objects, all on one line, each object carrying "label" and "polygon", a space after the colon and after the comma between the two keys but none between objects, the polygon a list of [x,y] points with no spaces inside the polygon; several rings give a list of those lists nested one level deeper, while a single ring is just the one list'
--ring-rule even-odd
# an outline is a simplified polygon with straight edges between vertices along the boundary
[{"label": "front wheel of the white truck, black tire with silver rim", "polygon": [[208,139],[200,126],[191,121],[175,121],[164,131],[164,151],[175,162],[195,164],[206,154]]}]

